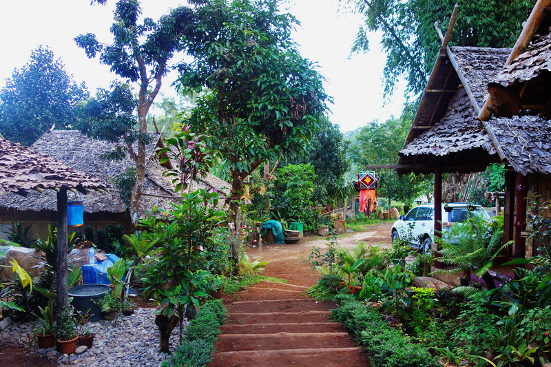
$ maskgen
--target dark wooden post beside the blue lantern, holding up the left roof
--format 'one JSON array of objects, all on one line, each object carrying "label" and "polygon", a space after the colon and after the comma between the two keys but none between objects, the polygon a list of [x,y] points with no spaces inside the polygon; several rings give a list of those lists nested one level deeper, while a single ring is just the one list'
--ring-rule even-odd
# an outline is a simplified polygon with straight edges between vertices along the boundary
[{"label": "dark wooden post beside the blue lantern, holding up the left roof", "polygon": [[56,306],[67,307],[67,189],[57,191]]}]

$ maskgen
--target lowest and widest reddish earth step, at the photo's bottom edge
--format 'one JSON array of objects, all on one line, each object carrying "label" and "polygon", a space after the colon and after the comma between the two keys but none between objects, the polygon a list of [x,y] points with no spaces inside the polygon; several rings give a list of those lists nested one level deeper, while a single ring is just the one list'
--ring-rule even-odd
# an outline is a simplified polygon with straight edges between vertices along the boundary
[{"label": "lowest and widest reddish earth step, at the photo's bottom edge", "polygon": [[311,348],[291,350],[244,350],[215,353],[209,367],[228,366],[369,366],[367,354],[360,347]]}]

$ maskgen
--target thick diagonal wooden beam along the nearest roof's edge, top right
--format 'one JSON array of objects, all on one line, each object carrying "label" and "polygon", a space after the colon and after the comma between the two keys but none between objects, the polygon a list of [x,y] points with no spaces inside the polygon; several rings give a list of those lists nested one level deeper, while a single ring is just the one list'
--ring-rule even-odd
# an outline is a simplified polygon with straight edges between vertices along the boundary
[{"label": "thick diagonal wooden beam along the nearest roof's edge, top right", "polygon": [[[545,18],[545,8],[548,6],[551,6],[551,0],[538,0],[534,8],[532,9],[532,12],[530,12],[530,17],[528,17],[528,20],[524,24],[524,28],[519,36],[519,39],[517,39],[517,43],[514,44],[514,47],[511,50],[511,53],[509,54],[509,57],[505,63],[505,65],[509,65],[512,63],[514,59],[517,59],[517,56],[519,54],[523,53],[526,50],[526,47],[528,44],[530,44],[530,41],[532,40],[532,37],[536,33],[539,24]],[[493,100],[492,96],[488,96],[486,99],[486,103],[484,103],[484,107],[482,107],[478,118],[483,121],[487,121],[492,116],[492,106],[495,104],[495,101]]]}]

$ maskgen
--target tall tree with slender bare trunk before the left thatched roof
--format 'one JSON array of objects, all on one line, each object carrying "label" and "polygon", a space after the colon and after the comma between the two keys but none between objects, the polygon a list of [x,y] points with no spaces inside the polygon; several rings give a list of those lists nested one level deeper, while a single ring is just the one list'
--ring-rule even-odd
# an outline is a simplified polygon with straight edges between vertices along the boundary
[{"label": "tall tree with slender bare trunk before the left thatched roof", "polygon": [[[105,3],[105,0],[97,2]],[[157,22],[145,18],[143,23],[138,23],[141,16],[140,2],[118,0],[111,26],[112,44],[99,43],[95,34],[91,33],[75,38],[76,44],[85,50],[88,57],[99,56],[100,62],[110,65],[112,72],[138,85],[137,133],[133,135],[137,140],[137,150],[133,157],[136,162],[136,182],[129,206],[134,222],[145,177],[147,113],[160,90],[168,61],[175,52],[183,50],[182,37],[189,32],[192,15],[190,8],[180,6],[171,9]],[[90,121],[90,124],[93,123]],[[119,132],[118,129],[112,130],[113,139]]]}]

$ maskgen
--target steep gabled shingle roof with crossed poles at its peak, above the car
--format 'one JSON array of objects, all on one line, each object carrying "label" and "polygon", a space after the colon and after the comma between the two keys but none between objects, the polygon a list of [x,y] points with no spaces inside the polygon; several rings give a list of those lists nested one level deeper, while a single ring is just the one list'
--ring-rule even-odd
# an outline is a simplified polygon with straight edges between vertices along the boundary
[{"label": "steep gabled shingle roof with crossed poles at its peak, above the car", "polygon": [[399,152],[399,174],[428,174],[436,165],[444,172],[483,171],[489,162],[499,161],[477,114],[488,76],[509,51],[453,47],[439,56]]}]

